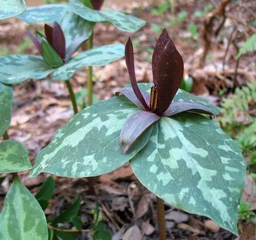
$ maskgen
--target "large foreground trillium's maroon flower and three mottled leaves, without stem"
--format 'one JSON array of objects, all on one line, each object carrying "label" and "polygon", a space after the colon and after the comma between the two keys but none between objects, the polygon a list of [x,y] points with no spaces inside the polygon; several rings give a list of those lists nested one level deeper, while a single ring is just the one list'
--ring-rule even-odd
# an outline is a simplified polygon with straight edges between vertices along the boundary
[{"label": "large foreground trillium's maroon flower and three mottled leaves, without stem", "polygon": [[183,61],[166,31],[153,54],[154,84],[137,84],[130,39],[125,60],[132,88],[60,128],[39,152],[30,177],[93,177],[130,161],[138,180],[159,198],[238,234],[245,164],[236,143],[207,117],[219,108],[178,89]]}]

